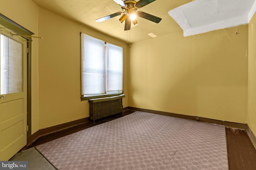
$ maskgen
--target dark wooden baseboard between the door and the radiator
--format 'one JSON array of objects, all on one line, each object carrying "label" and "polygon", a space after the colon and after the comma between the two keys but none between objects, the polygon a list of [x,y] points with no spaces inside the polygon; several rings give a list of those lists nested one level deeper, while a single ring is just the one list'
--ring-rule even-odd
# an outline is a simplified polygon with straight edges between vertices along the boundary
[{"label": "dark wooden baseboard between the door and the radiator", "polygon": [[33,133],[32,135],[29,135],[27,137],[27,144],[33,143],[34,141],[36,141],[36,139],[38,139],[39,137],[42,137],[44,135],[48,135],[50,133],[54,133],[54,132],[57,132],[57,131],[62,131],[64,129],[68,129],[70,127],[81,125],[81,124],[84,124],[84,123],[87,123],[87,122],[89,122],[89,117],[85,117],[85,118],[78,119],[78,120],[75,120],[75,121],[70,121],[70,122],[67,122],[67,123],[62,123],[60,125],[55,125],[55,126],[52,126],[52,127],[46,127],[44,129],[39,129],[38,131],[36,131],[36,133]]}]

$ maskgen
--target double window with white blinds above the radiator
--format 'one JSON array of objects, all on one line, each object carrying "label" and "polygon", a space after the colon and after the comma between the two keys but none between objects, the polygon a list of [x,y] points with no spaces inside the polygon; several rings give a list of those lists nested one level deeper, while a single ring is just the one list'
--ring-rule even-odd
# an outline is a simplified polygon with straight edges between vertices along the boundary
[{"label": "double window with white blinds above the radiator", "polygon": [[82,97],[122,93],[123,48],[81,33]]}]

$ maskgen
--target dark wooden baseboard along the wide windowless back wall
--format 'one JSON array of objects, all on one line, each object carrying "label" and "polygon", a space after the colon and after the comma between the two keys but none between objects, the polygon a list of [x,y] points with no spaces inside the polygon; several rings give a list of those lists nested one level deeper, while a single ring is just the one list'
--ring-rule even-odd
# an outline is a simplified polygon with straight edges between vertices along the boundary
[{"label": "dark wooden baseboard along the wide windowless back wall", "polygon": [[204,117],[198,117],[198,116],[190,116],[190,115],[181,115],[181,114],[176,114],[176,113],[170,113],[170,112],[165,112],[165,111],[156,111],[156,110],[150,110],[150,109],[141,109],[141,108],[136,108],[136,107],[128,107],[129,110],[134,110],[134,111],[144,111],[147,113],[155,113],[159,115],[166,115],[166,116],[171,116],[171,117],[178,117],[182,119],[190,119],[190,120],[196,120],[200,119],[201,122],[206,122],[206,123],[214,123],[218,125],[224,125],[227,127],[234,127],[238,129],[246,129],[247,124],[244,123],[234,123],[234,122],[228,122],[228,121],[220,121],[220,120],[215,120],[215,119],[208,119]]}]

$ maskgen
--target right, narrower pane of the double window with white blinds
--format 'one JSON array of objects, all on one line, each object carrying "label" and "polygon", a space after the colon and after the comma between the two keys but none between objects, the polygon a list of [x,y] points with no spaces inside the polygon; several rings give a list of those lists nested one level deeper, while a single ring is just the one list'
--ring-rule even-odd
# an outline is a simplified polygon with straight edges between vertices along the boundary
[{"label": "right, narrower pane of the double window with white blinds", "polygon": [[122,90],[123,48],[107,44],[107,91]]}]

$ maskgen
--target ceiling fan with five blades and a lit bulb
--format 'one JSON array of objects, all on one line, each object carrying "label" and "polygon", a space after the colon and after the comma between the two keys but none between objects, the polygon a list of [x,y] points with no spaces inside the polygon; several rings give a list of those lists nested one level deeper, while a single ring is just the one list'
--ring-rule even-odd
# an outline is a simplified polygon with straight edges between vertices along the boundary
[{"label": "ceiling fan with five blades and a lit bulb", "polygon": [[138,2],[136,2],[135,0],[125,0],[125,1],[114,0],[114,1],[121,6],[122,12],[116,12],[114,14],[99,18],[95,20],[96,22],[105,21],[110,18],[120,16],[121,14],[123,14],[119,19],[119,21],[123,23],[125,20],[124,31],[127,31],[131,29],[132,22],[134,25],[138,24],[138,21],[136,20],[136,16],[145,18],[146,20],[150,20],[155,23],[159,23],[162,20],[162,18],[158,18],[146,12],[142,12],[142,11],[136,12],[138,8],[142,8],[143,6],[146,6],[151,2],[154,2],[155,0],[140,0]]}]

